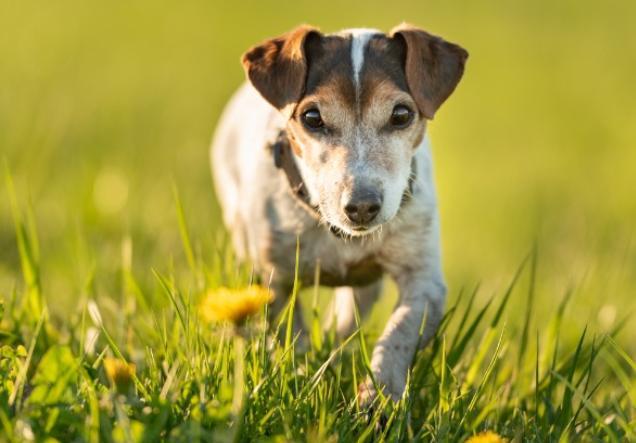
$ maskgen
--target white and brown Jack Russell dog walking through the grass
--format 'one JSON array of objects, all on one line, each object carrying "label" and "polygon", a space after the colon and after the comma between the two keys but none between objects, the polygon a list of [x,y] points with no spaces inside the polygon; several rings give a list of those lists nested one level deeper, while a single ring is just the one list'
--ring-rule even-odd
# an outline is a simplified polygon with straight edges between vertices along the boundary
[{"label": "white and brown Jack Russell dog walking through the grass", "polygon": [[[354,332],[382,276],[399,289],[360,401],[402,396],[418,345],[444,312],[439,218],[427,122],[455,90],[468,53],[403,24],[385,34],[300,26],[242,57],[247,82],[211,149],[215,188],[237,256],[280,311],[298,278],[335,287],[330,321]],[[296,247],[299,241],[299,258]],[[295,324],[302,319],[296,306]]]}]

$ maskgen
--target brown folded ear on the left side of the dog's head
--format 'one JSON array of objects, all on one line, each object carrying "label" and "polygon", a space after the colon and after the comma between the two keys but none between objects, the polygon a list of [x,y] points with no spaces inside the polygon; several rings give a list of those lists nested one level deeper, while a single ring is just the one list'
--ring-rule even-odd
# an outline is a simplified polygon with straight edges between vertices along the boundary
[{"label": "brown folded ear on the left side of the dog's head", "polygon": [[320,35],[316,28],[302,25],[243,54],[243,67],[249,81],[265,100],[288,115],[305,89],[304,46],[310,34]]}]

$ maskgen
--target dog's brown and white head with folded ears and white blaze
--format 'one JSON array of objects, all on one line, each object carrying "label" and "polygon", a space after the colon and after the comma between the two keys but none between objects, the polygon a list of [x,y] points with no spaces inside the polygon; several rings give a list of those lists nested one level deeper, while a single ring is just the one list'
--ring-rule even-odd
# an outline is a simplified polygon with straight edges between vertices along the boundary
[{"label": "dog's brown and white head with folded ears and white blaze", "polygon": [[311,200],[330,225],[365,235],[398,212],[426,121],[468,53],[408,25],[323,35],[301,26],[250,49],[253,86],[287,118]]}]

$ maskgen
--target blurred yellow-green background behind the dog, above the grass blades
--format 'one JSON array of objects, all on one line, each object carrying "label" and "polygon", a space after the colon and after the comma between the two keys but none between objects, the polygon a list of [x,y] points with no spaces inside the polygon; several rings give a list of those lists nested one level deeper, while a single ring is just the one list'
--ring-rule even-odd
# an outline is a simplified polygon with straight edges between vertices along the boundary
[{"label": "blurred yellow-green background behind the dog, above the grass blades", "polygon": [[[49,304],[63,317],[93,273],[118,291],[127,237],[146,285],[184,267],[173,183],[200,254],[216,253],[208,145],[242,51],[303,22],[408,21],[471,54],[430,126],[451,301],[501,291],[537,245],[539,323],[574,289],[572,326],[606,329],[636,306],[635,19],[629,0],[0,0],[0,158],[37,222]],[[21,279],[0,195],[7,295]]]}]

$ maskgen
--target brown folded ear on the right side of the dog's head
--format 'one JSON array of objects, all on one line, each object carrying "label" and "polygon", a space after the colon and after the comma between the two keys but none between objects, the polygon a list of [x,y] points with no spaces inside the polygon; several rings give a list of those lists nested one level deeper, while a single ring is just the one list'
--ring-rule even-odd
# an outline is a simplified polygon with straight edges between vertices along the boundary
[{"label": "brown folded ear on the right side of the dog's head", "polygon": [[391,37],[404,42],[406,81],[420,112],[432,119],[462,78],[468,52],[407,24],[394,28]]}]

